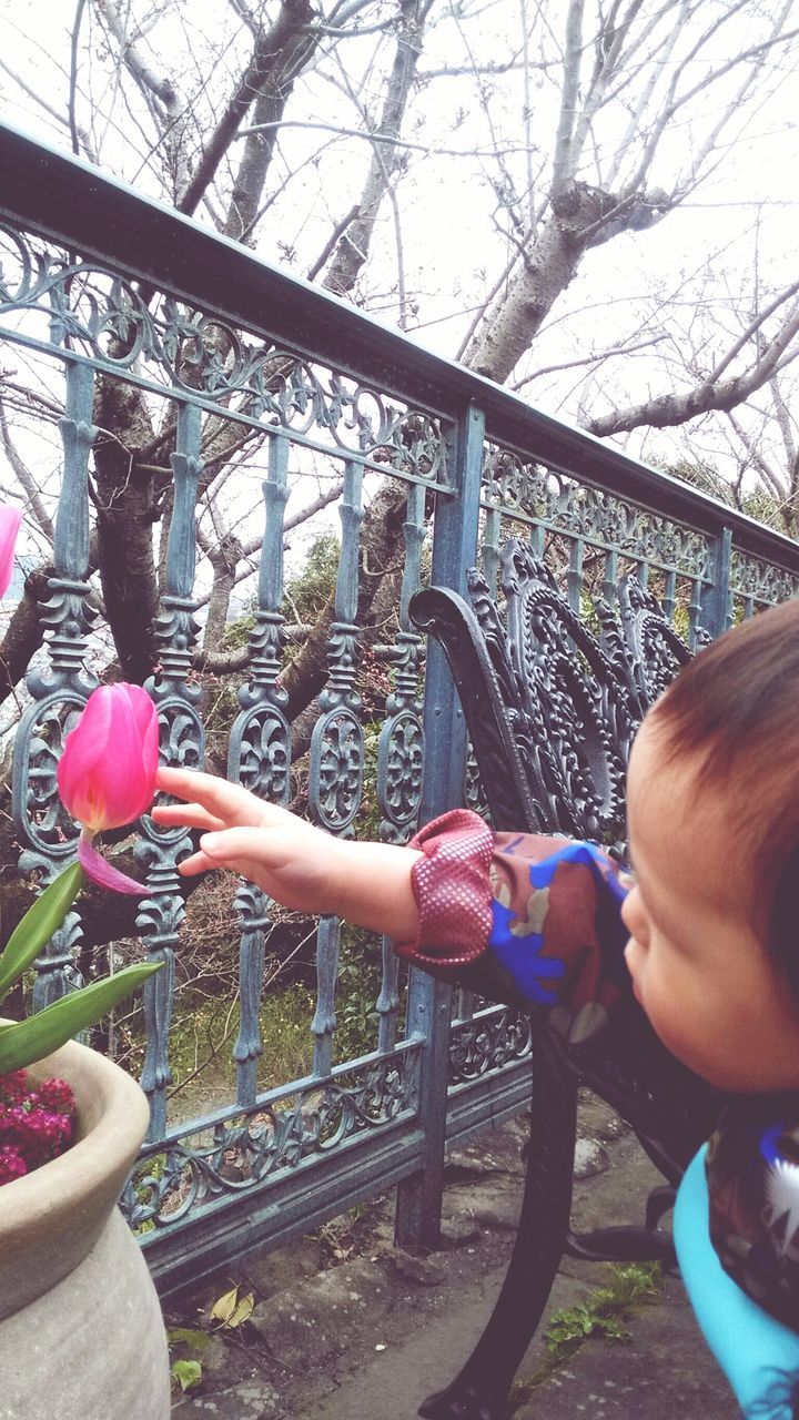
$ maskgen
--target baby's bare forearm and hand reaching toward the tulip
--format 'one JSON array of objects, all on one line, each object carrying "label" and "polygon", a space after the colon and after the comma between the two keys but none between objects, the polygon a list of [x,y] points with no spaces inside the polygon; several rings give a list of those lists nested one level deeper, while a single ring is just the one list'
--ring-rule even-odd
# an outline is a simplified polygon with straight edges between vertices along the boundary
[{"label": "baby's bare forearm and hand reaching toward the tulip", "polygon": [[205,831],[199,852],[181,863],[185,876],[229,868],[286,907],[337,913],[398,941],[415,939],[415,849],[333,838],[212,774],[161,768],[158,787],[183,802],[154,808],[156,824]]}]

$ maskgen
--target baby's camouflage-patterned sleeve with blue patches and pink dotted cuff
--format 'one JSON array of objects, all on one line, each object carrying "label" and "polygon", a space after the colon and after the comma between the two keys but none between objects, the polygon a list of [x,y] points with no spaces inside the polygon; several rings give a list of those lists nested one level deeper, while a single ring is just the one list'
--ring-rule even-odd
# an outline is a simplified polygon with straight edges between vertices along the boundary
[{"label": "baby's camouflage-patterned sleeve with blue patches and pink dotted cuff", "polygon": [[454,809],[412,841],[415,941],[395,947],[431,976],[495,1001],[546,1007],[570,1041],[604,1028],[631,994],[621,919],[626,885],[596,843],[495,834]]}]

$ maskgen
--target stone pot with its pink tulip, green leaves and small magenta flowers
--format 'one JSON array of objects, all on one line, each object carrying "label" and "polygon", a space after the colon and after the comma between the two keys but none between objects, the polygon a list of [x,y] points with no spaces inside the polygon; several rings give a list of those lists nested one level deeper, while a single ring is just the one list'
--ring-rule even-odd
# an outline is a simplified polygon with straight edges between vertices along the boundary
[{"label": "stone pot with its pink tulip, green leaves and small magenta flowers", "polygon": [[[129,882],[114,875],[91,839],[149,807],[156,760],[155,710],[145,692],[95,692],[58,770],[64,802],[82,821],[81,862],[48,883],[11,934],[0,956],[0,1001],[61,927],[84,880],[81,863],[90,872],[100,865],[94,876],[112,886]],[[146,888],[131,883],[131,890]],[[117,1210],[146,1132],[146,1099],[111,1061],[64,1045],[159,966],[136,963],[27,1020],[0,1020],[0,1353],[16,1360],[0,1367],[9,1414],[51,1414],[55,1404],[64,1420],[169,1417],[158,1296]]]}]

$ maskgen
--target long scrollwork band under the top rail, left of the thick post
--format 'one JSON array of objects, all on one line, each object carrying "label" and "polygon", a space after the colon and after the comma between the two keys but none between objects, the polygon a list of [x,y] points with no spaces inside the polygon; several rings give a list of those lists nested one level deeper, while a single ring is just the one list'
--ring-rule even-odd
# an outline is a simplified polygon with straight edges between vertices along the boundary
[{"label": "long scrollwork band under the top rail, left of the thick post", "polygon": [[[382,471],[448,484],[441,419],[367,382],[176,301],[146,298],[100,261],[0,224],[0,317],[9,338],[84,361],[178,399],[236,409],[250,426],[367,457]],[[37,317],[41,320],[37,322]],[[16,329],[14,322],[18,324]],[[0,328],[0,334],[1,334]],[[34,334],[36,332],[36,334]]]}]

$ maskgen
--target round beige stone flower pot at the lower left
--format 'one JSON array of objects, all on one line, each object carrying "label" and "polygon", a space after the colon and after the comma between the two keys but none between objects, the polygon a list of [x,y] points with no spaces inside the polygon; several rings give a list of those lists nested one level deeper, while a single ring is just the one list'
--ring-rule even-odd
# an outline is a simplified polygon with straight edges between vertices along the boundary
[{"label": "round beige stone flower pot at the lower left", "polygon": [[64,1045],[28,1075],[73,1086],[77,1142],[0,1189],[0,1417],[166,1420],[161,1308],[117,1208],[146,1099],[82,1045]]}]

